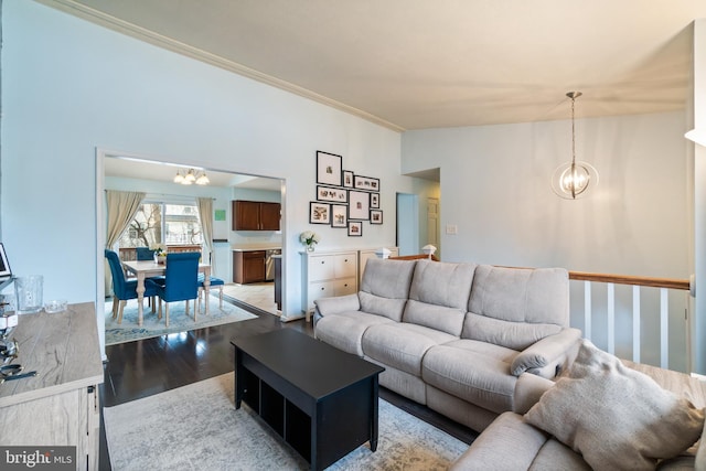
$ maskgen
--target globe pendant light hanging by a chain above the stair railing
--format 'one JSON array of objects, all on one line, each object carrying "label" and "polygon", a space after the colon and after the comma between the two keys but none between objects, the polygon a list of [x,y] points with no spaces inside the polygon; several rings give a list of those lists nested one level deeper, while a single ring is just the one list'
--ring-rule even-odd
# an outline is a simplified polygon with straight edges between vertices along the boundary
[{"label": "globe pendant light hanging by a chain above the stair railing", "polygon": [[576,160],[576,120],[575,105],[576,98],[581,96],[580,92],[569,92],[566,94],[571,98],[571,161],[559,165],[552,175],[552,190],[559,197],[576,200],[585,196],[589,188],[598,185],[598,171],[588,162]]}]

